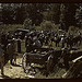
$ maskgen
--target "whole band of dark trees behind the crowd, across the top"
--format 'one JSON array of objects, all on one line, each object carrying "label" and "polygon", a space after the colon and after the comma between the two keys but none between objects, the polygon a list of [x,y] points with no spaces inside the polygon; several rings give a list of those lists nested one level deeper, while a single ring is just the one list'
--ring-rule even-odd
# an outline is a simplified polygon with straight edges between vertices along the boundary
[{"label": "whole band of dark trees behind the crowd, across the top", "polygon": [[47,20],[68,31],[69,26],[75,26],[81,21],[79,16],[75,19],[80,7],[81,3],[1,3],[0,21],[3,24],[23,24],[28,17],[32,25],[38,26]]}]

